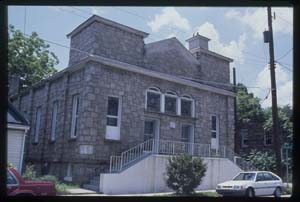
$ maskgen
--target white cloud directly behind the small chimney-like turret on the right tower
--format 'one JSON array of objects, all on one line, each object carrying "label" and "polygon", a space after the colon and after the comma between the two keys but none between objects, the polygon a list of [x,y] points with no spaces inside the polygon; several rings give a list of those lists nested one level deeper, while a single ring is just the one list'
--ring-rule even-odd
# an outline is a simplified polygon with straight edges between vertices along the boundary
[{"label": "white cloud directly behind the small chimney-like turret on the right tower", "polygon": [[201,26],[196,28],[196,31],[200,35],[203,35],[209,39],[209,49],[217,52],[221,55],[230,57],[234,59],[234,62],[243,64],[244,54],[243,50],[245,49],[245,40],[246,34],[243,33],[240,35],[239,40],[232,40],[229,43],[223,43],[220,41],[220,36],[216,28],[210,22],[205,22]]}]

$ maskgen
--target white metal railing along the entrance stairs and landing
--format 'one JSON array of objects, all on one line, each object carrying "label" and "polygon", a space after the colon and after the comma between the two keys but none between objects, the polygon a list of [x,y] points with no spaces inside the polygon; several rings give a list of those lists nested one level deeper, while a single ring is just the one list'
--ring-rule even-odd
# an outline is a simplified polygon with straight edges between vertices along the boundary
[{"label": "white metal railing along the entrance stairs and landing", "polygon": [[243,170],[256,170],[226,146],[213,149],[210,144],[149,139],[122,152],[120,156],[111,156],[110,172],[119,172],[149,154],[178,155],[184,153],[201,157],[228,158]]}]

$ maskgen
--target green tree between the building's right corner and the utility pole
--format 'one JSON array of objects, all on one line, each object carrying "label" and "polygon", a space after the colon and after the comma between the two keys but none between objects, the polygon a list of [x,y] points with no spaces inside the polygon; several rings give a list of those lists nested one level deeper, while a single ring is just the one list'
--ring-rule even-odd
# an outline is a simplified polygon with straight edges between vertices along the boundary
[{"label": "green tree between the building's right corner and the utility pole", "polygon": [[253,93],[248,93],[247,87],[239,83],[237,85],[237,119],[239,123],[250,121],[262,121],[263,110],[259,98]]}]

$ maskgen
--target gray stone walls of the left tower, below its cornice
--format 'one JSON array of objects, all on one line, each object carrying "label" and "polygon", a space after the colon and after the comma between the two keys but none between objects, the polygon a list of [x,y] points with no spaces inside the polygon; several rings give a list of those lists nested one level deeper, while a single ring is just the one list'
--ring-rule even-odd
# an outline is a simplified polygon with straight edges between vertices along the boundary
[{"label": "gray stone walls of the left tower, below its cornice", "polygon": [[[129,64],[143,64],[144,40],[142,36],[100,22],[94,22],[72,36],[71,48]],[[84,56],[86,53],[71,50],[69,65],[77,63]]]}]

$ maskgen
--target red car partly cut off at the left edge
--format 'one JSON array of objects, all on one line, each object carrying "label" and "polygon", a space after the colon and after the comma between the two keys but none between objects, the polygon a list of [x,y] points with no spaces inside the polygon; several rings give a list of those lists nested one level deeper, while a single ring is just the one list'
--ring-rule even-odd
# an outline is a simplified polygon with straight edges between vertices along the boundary
[{"label": "red car partly cut off at the left edge", "polygon": [[8,196],[55,196],[55,185],[47,181],[24,180],[14,168],[7,168]]}]

